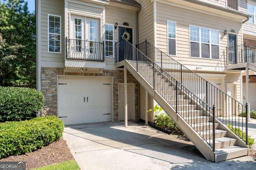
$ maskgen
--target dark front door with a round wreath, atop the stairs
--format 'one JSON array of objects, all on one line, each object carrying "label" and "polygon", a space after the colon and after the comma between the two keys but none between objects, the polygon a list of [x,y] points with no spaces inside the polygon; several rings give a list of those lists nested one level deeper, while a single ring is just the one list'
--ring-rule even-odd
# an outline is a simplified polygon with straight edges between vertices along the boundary
[{"label": "dark front door with a round wreath, atop the stairs", "polygon": [[[128,34],[124,34],[124,32],[127,32]],[[129,37],[127,37],[127,35],[129,35]],[[132,28],[118,27],[118,41],[120,41],[118,61],[122,61],[125,57],[129,57],[132,52],[130,45],[127,44],[126,41],[122,41],[123,39],[127,39],[127,41],[132,44]]]}]

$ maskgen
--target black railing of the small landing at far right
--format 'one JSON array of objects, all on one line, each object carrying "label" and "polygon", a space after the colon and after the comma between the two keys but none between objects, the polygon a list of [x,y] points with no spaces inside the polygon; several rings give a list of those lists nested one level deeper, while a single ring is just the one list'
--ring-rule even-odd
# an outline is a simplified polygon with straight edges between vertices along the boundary
[{"label": "black railing of the small landing at far right", "polygon": [[256,48],[246,45],[237,45],[234,47],[227,47],[226,51],[227,65],[239,63],[256,64]]}]

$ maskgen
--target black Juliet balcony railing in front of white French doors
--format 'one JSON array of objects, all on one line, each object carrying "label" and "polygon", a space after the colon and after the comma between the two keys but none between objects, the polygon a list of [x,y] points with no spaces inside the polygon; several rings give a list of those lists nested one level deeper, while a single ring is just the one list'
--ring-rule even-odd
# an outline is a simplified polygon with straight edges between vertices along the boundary
[{"label": "black Juliet balcony railing in front of white French doors", "polygon": [[66,38],[66,59],[105,61],[104,43]]}]

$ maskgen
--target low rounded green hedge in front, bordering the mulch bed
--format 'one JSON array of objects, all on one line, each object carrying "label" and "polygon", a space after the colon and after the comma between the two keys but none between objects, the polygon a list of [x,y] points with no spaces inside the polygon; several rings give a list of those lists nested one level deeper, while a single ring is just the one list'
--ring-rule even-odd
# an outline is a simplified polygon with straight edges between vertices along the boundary
[{"label": "low rounded green hedge in front, bordering the mulch bed", "polygon": [[0,158],[19,155],[58,141],[64,130],[56,116],[0,123]]}]

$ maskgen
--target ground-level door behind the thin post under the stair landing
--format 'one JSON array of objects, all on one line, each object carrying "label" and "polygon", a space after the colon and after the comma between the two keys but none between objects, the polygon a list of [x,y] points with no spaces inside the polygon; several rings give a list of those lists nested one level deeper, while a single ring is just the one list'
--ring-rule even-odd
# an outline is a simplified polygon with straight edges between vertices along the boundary
[{"label": "ground-level door behind the thin post under the stair landing", "polygon": [[[127,84],[128,120],[135,120],[134,84]],[[119,120],[124,120],[124,84],[119,84]]]}]

